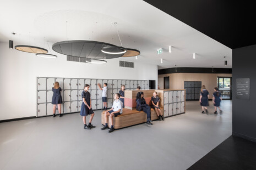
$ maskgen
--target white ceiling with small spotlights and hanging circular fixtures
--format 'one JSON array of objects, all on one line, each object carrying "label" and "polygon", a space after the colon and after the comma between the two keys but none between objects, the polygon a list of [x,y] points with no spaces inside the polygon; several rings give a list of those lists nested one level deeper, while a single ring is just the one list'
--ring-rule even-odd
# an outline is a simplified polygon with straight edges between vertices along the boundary
[{"label": "white ceiling with small spotlights and hanging circular fixtures", "polygon": [[[232,49],[140,0],[5,1],[0,6],[0,23],[0,42],[13,39],[14,44],[48,49],[46,41],[51,47],[59,41],[83,39],[120,46],[118,30],[123,47],[141,53],[138,60],[121,60],[156,64],[159,69],[225,67],[227,60],[226,67],[232,67]],[[168,53],[169,45],[172,53]],[[157,55],[159,48],[164,53]]]}]

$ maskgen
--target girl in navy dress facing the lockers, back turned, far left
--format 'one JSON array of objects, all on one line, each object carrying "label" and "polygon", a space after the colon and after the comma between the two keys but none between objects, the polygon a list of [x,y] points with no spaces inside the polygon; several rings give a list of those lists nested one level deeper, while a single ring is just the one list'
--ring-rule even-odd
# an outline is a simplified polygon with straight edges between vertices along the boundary
[{"label": "girl in navy dress facing the lockers, back turned, far left", "polygon": [[52,87],[53,117],[55,117],[56,105],[58,105],[59,117],[62,116],[62,114],[61,114],[61,104],[62,104],[61,91],[62,91],[62,89],[61,89],[61,87],[59,87],[59,82],[55,82],[54,87]]}]

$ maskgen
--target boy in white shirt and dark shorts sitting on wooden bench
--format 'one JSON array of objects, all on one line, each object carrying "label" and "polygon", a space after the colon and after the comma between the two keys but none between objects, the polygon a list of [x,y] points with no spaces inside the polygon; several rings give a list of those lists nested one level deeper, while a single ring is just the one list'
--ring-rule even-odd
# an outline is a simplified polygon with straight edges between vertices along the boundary
[{"label": "boy in white shirt and dark shorts sitting on wooden bench", "polygon": [[114,116],[118,116],[121,115],[123,112],[123,103],[121,100],[119,100],[120,98],[120,94],[116,93],[115,94],[115,101],[113,102],[113,106],[110,110],[107,110],[105,112],[105,126],[101,128],[101,130],[105,130],[105,129],[109,129],[108,125],[107,125],[107,120],[108,120],[108,116],[110,116],[110,122],[111,122],[111,128],[108,131],[108,133],[114,132]]}]

